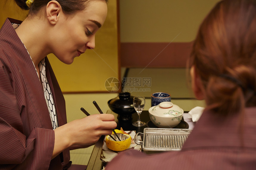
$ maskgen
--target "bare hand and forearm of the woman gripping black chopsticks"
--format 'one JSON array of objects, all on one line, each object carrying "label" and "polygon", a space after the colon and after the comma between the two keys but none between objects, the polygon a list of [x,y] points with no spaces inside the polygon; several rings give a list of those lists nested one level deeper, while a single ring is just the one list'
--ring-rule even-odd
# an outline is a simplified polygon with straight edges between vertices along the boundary
[{"label": "bare hand and forearm of the woman gripping black chopsticks", "polygon": [[114,115],[95,114],[56,128],[52,158],[68,147],[96,143],[100,136],[112,134],[116,125]]}]

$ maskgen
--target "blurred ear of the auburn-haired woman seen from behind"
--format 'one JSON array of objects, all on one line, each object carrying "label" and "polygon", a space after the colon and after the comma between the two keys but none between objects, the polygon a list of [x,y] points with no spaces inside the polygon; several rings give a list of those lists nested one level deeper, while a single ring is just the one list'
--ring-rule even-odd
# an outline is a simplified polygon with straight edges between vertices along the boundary
[{"label": "blurred ear of the auburn-haired woman seen from behind", "polygon": [[192,80],[192,90],[196,96],[196,99],[203,100],[205,99],[204,88],[202,85],[202,80],[199,75],[196,73],[195,67],[192,66],[190,69],[190,75]]}]

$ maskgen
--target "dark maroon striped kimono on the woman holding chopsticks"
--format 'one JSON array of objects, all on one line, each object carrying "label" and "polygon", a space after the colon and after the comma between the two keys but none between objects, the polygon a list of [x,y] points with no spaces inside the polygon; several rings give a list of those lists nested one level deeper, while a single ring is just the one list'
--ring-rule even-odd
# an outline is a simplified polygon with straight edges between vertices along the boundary
[{"label": "dark maroon striped kimono on the woman holding chopsticks", "polygon": [[[62,169],[71,164],[69,150],[64,160],[51,160],[54,131],[42,85],[10,20],[21,23],[9,18],[0,30],[0,169]],[[67,123],[65,100],[47,57],[46,76],[61,126]]]}]

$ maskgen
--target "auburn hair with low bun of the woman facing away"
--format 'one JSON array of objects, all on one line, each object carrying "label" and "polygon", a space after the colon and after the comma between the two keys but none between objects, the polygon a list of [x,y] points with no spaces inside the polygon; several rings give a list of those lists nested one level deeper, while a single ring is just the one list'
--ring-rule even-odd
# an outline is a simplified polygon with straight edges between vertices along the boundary
[{"label": "auburn hair with low bun of the woman facing away", "polygon": [[256,1],[216,4],[199,28],[189,64],[209,109],[228,114],[256,106]]}]

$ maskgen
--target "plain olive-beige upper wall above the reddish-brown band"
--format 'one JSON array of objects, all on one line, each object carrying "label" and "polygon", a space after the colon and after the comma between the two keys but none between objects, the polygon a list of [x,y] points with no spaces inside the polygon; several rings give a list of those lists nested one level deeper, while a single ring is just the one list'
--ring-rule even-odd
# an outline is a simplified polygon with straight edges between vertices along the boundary
[{"label": "plain olive-beige upper wall above the reddish-brown band", "polygon": [[120,0],[121,42],[190,42],[218,1]]}]

